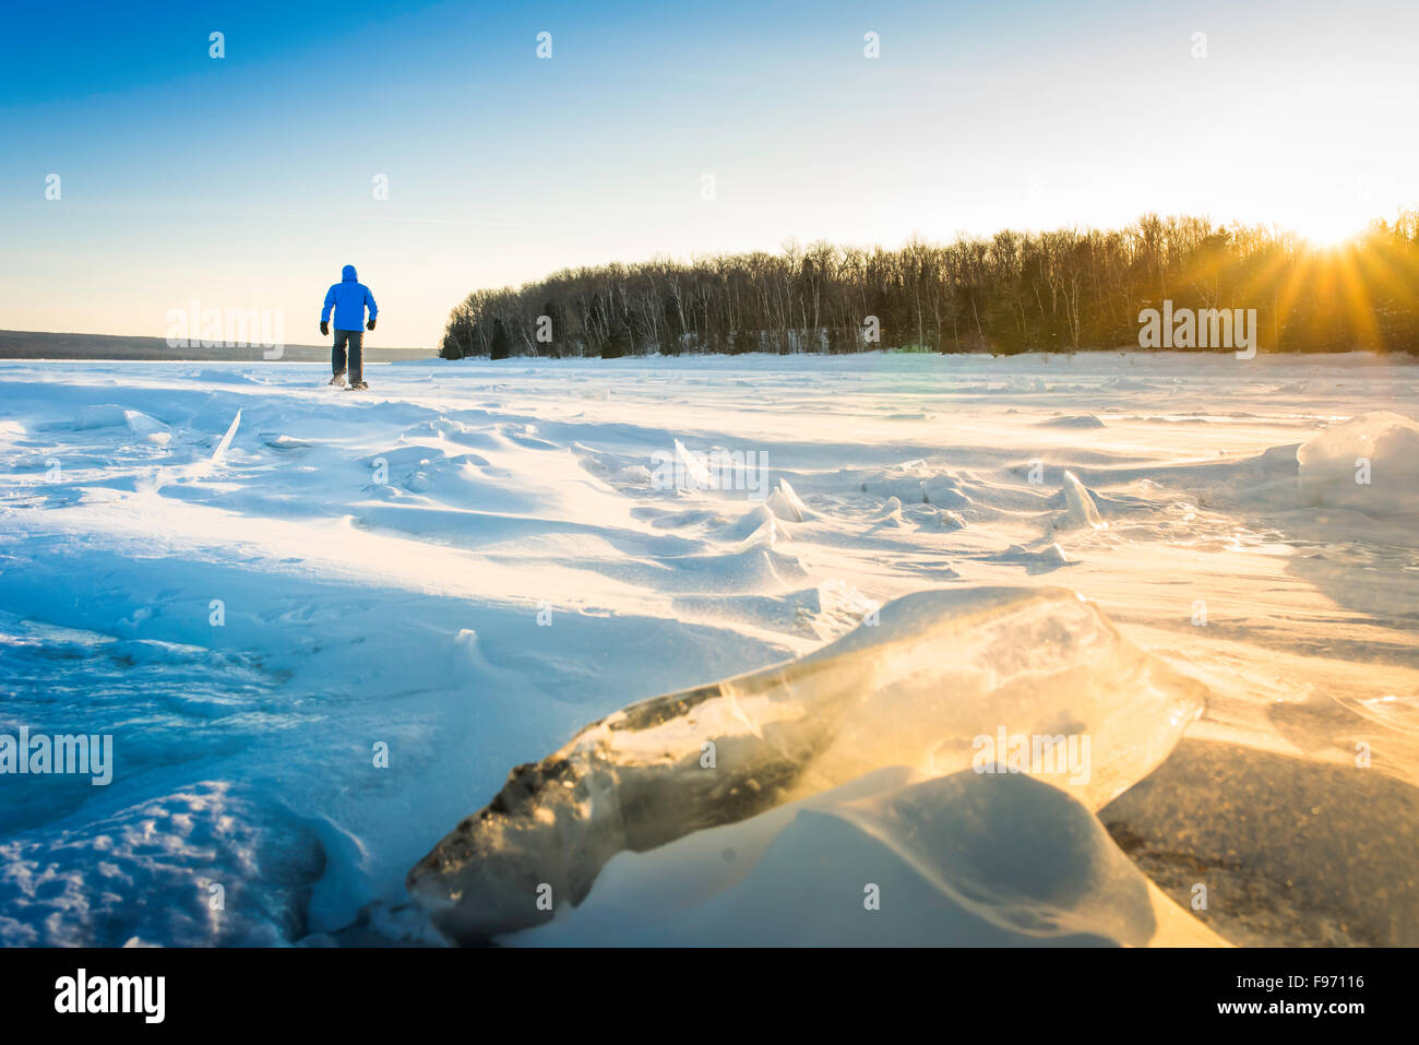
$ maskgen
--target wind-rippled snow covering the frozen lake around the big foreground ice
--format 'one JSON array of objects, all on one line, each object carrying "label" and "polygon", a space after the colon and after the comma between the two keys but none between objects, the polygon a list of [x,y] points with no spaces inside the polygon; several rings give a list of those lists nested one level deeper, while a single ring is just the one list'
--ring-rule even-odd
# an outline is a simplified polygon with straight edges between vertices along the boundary
[{"label": "wind-rippled snow covering the frozen lake around the big foreground ice", "polygon": [[[915,592],[1064,585],[1209,690],[1112,801],[874,755],[894,768],[622,849],[580,906],[556,893],[499,941],[1419,944],[1412,361],[368,376],[355,396],[302,363],[0,363],[0,734],[108,733],[115,757],[108,787],[0,777],[0,941],[343,943],[356,920],[438,941],[407,870],[587,721],[812,655]],[[763,486],[697,488],[717,447],[763,454]],[[1104,747],[1095,779],[1135,779]]]}]

